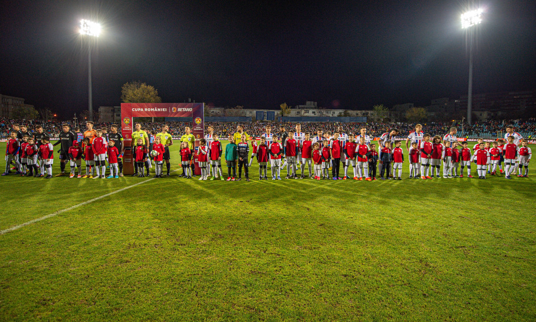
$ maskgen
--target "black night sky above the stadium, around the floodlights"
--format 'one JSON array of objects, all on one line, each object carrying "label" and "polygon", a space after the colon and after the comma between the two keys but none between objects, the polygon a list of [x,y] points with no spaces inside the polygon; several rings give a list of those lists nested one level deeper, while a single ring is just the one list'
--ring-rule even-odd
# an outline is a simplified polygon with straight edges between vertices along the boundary
[{"label": "black night sky above the stadium, around the floodlights", "polygon": [[[466,2],[1,3],[0,93],[64,116],[87,109],[81,18],[103,27],[94,109],[120,104],[130,80],[155,86],[164,102],[245,108],[427,105],[467,92]],[[479,5],[474,92],[535,89],[535,2]]]}]

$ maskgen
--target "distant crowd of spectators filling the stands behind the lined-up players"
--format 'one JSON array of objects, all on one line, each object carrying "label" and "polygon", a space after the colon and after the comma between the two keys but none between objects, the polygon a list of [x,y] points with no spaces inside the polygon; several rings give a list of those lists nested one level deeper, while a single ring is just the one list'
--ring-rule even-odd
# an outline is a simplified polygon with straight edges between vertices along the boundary
[{"label": "distant crowd of spectators filling the stands behind the lined-up players", "polygon": [[[34,131],[36,125],[42,126],[51,137],[57,137],[59,131],[61,131],[61,125],[64,122],[61,121],[43,121],[43,120],[13,120],[8,118],[0,118],[0,138],[9,136],[9,130],[12,129],[13,124],[26,125],[29,131]],[[66,121],[73,129],[73,121]],[[96,123],[94,128],[109,128],[112,123]],[[163,124],[169,126],[169,133],[173,136],[181,136],[184,134],[184,127],[191,126],[191,122],[144,122],[142,128],[149,131],[155,130],[157,133],[160,131]],[[277,133],[280,126],[285,126],[287,130],[294,128],[292,122],[205,122],[205,129],[207,126],[212,126],[214,132],[221,135],[230,135],[236,132],[236,126],[242,125],[244,131],[249,135],[260,135],[265,132],[265,127],[270,125],[272,132]],[[343,126],[346,133],[356,133],[362,126],[367,127],[367,134],[370,136],[380,136],[382,133],[388,132],[391,128],[397,128],[400,131],[400,136],[405,137],[415,128],[415,123],[375,123],[375,122],[349,122],[349,123],[336,123],[336,122],[301,122],[302,131],[309,133],[316,133],[317,130],[336,131],[339,125]],[[531,118],[527,120],[504,120],[504,121],[482,121],[475,122],[473,125],[468,126],[466,123],[461,122],[448,122],[448,123],[423,123],[423,130],[428,133],[448,133],[452,126],[458,128],[458,136],[466,137],[478,137],[478,136],[493,136],[497,137],[498,132],[504,133],[504,128],[507,125],[513,125],[517,132],[523,133],[525,137],[530,138],[536,135],[536,119]],[[85,126],[81,126],[84,129]],[[463,129],[463,130],[462,130]]]}]

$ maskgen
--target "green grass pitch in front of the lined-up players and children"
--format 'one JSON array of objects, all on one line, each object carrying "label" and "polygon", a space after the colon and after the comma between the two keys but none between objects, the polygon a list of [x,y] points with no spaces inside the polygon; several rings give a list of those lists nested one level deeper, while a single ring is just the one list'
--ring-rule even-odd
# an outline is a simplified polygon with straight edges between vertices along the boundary
[{"label": "green grass pitch in front of the lined-up players and children", "polygon": [[1,177],[0,230],[144,183],[0,235],[0,318],[536,319],[536,172],[374,182],[258,181],[256,166],[251,182],[178,172]]}]

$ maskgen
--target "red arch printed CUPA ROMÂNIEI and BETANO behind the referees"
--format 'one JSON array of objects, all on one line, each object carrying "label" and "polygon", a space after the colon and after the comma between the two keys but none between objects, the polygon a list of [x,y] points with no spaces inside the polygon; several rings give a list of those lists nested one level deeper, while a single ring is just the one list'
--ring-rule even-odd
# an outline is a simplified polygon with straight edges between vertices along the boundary
[{"label": "red arch printed CUPA ROM\u00c2NIEI and BETANO behind the referees", "polygon": [[134,173],[131,148],[132,129],[135,128],[133,118],[191,118],[197,147],[204,137],[204,108],[204,103],[121,103],[121,131],[125,145],[123,173]]}]

